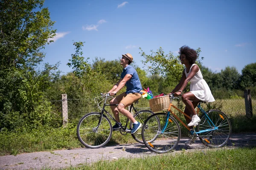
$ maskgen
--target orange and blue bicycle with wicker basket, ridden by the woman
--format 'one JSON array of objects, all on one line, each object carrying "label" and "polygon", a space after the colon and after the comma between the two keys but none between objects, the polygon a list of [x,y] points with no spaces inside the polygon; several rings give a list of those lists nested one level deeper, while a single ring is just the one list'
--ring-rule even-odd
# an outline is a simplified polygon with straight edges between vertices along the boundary
[{"label": "orange and blue bicycle with wicker basket, ridden by the woman", "polygon": [[[161,96],[150,100],[151,110],[161,111],[166,110],[169,105],[167,113],[155,113],[145,120],[142,127],[142,139],[149,150],[156,153],[166,153],[173,150],[180,141],[180,125],[181,122],[189,130],[189,137],[195,142],[200,139],[207,147],[222,147],[230,139],[231,123],[225,113],[218,110],[210,110],[205,112],[198,103],[197,114],[201,111],[201,121],[190,129],[182,120],[171,110],[175,108],[180,113],[191,119],[186,113],[180,111],[172,104],[172,99],[179,99],[173,95]],[[174,116],[171,116],[171,114]],[[176,119],[177,120],[176,120]],[[156,139],[157,136],[157,139]],[[152,140],[154,139],[154,140]]]}]

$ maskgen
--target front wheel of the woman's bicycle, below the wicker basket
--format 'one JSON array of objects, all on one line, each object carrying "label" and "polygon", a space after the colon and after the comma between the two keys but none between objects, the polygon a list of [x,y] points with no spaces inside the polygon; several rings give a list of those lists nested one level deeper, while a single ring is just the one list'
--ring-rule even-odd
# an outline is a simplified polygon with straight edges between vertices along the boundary
[{"label": "front wheel of the woman's bicycle, below the wicker basket", "polygon": [[[180,141],[180,126],[174,117],[155,113],[148,117],[142,127],[142,139],[149,150],[156,153],[166,153],[173,150]],[[153,140],[155,137],[157,139]],[[150,142],[152,141],[152,142]]]}]

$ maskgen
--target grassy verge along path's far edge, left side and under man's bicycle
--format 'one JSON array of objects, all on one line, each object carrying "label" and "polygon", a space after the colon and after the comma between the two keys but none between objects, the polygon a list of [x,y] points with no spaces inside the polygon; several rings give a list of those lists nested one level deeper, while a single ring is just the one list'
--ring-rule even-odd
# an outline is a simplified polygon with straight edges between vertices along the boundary
[{"label": "grassy verge along path's far edge, left side and under man's bicycle", "polygon": [[[136,141],[130,134],[123,136],[117,131],[113,132],[108,145],[132,142]],[[42,128],[26,133],[0,132],[0,156],[81,147],[84,146],[79,142],[74,126]]]}]

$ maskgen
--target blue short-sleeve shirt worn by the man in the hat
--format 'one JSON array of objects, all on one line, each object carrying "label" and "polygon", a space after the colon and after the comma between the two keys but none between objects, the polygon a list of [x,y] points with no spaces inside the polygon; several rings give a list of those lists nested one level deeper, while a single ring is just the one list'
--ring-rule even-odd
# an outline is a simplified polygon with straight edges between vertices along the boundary
[{"label": "blue short-sleeve shirt worn by the man in the hat", "polygon": [[126,94],[129,93],[140,93],[142,94],[142,92],[140,92],[142,90],[142,86],[140,83],[140,79],[139,76],[137,74],[137,71],[131,66],[131,65],[127,65],[121,74],[121,79],[123,79],[125,77],[126,74],[131,74],[132,77],[131,79],[129,79],[126,82]]}]

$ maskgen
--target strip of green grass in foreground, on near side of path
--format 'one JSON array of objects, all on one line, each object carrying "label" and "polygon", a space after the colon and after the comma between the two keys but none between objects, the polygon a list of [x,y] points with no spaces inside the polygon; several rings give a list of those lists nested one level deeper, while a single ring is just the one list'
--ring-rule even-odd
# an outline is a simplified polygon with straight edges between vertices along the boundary
[{"label": "strip of green grass in foreground, on near side of path", "polygon": [[175,154],[79,164],[64,170],[253,170],[256,169],[255,159],[256,147],[195,152],[183,150]]}]

